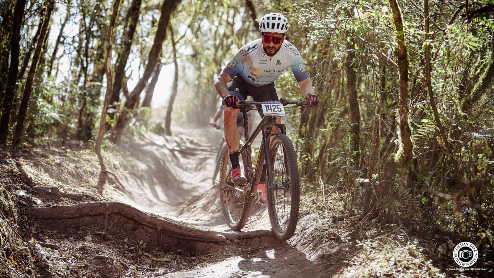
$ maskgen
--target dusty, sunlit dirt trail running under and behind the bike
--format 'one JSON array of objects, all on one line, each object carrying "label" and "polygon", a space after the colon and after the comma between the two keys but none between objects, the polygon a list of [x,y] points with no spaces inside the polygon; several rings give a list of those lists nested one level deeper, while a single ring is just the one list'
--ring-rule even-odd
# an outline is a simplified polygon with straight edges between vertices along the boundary
[{"label": "dusty, sunlit dirt trail running under and behind the bike", "polygon": [[[200,229],[227,232],[221,212],[218,191],[212,187],[211,175],[216,155],[216,142],[221,134],[212,129],[177,136],[149,135],[128,150],[140,157],[141,183],[123,183],[124,190],[115,196],[122,202],[161,216],[178,220]],[[187,135],[186,135],[187,134]],[[192,139],[193,138],[193,139]],[[270,230],[265,206],[256,205],[243,231]],[[245,247],[242,254],[232,253],[225,261],[198,267],[168,277],[324,277],[315,263],[300,250],[297,234],[288,242],[274,238],[257,238],[236,242]],[[305,246],[307,247],[307,246]],[[317,257],[312,258],[313,260]]]}]

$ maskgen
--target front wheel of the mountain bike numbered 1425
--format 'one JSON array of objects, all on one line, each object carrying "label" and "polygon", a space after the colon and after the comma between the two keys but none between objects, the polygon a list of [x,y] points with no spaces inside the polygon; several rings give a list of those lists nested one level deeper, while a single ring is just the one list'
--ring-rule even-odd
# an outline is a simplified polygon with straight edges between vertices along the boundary
[{"label": "front wheel of the mountain bike numbered 1425", "polygon": [[297,158],[290,139],[276,135],[270,145],[273,188],[266,190],[269,220],[276,237],[289,239],[295,232],[300,206]]}]

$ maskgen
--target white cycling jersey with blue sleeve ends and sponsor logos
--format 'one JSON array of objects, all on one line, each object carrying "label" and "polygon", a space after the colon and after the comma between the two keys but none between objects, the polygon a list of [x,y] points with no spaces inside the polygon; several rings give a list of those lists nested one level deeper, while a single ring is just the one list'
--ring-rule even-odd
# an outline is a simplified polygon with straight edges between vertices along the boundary
[{"label": "white cycling jersey with blue sleeve ends and sponsor logos", "polygon": [[264,52],[261,39],[243,46],[223,69],[231,78],[240,75],[259,87],[273,83],[288,67],[297,82],[309,78],[298,49],[287,40],[273,57]]}]

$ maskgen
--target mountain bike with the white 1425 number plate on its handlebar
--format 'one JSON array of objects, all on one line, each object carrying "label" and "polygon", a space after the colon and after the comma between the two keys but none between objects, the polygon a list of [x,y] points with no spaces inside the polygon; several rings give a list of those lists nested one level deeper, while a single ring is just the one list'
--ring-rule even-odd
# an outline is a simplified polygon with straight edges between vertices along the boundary
[{"label": "mountain bike with the white 1425 number plate on its handlebar", "polygon": [[[249,136],[250,131],[246,128],[245,143],[239,142],[239,162],[242,173],[247,178],[246,185],[236,186],[231,181],[232,169],[228,148],[225,148],[221,155],[221,208],[226,223],[232,230],[240,231],[246,225],[251,204],[260,199],[257,187],[261,175],[265,173],[263,178],[266,181],[268,214],[273,232],[281,240],[289,239],[295,232],[300,205],[297,159],[293,145],[286,135],[285,124],[276,123],[276,118],[285,116],[285,108],[299,106],[307,106],[307,101],[289,101],[285,98],[280,101],[240,101],[240,113],[245,115],[249,110],[262,107],[264,117],[252,135]],[[245,119],[246,117],[244,121]],[[244,126],[247,127],[247,123]],[[262,134],[262,140],[253,167],[251,146],[259,134]]]}]

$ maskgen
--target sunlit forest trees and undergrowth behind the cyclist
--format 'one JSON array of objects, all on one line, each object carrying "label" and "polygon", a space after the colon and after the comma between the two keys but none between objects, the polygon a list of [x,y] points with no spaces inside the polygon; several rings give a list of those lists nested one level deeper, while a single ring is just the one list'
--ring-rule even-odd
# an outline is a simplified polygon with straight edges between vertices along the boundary
[{"label": "sunlit forest trees and undergrowth behind the cyclist", "polygon": [[[170,135],[172,121],[206,126],[214,79],[272,11],[321,97],[288,120],[303,192],[339,190],[362,219],[492,245],[492,0],[3,0],[0,144],[99,151]],[[289,70],[276,88],[301,97]],[[152,122],[158,94],[166,116]]]}]

